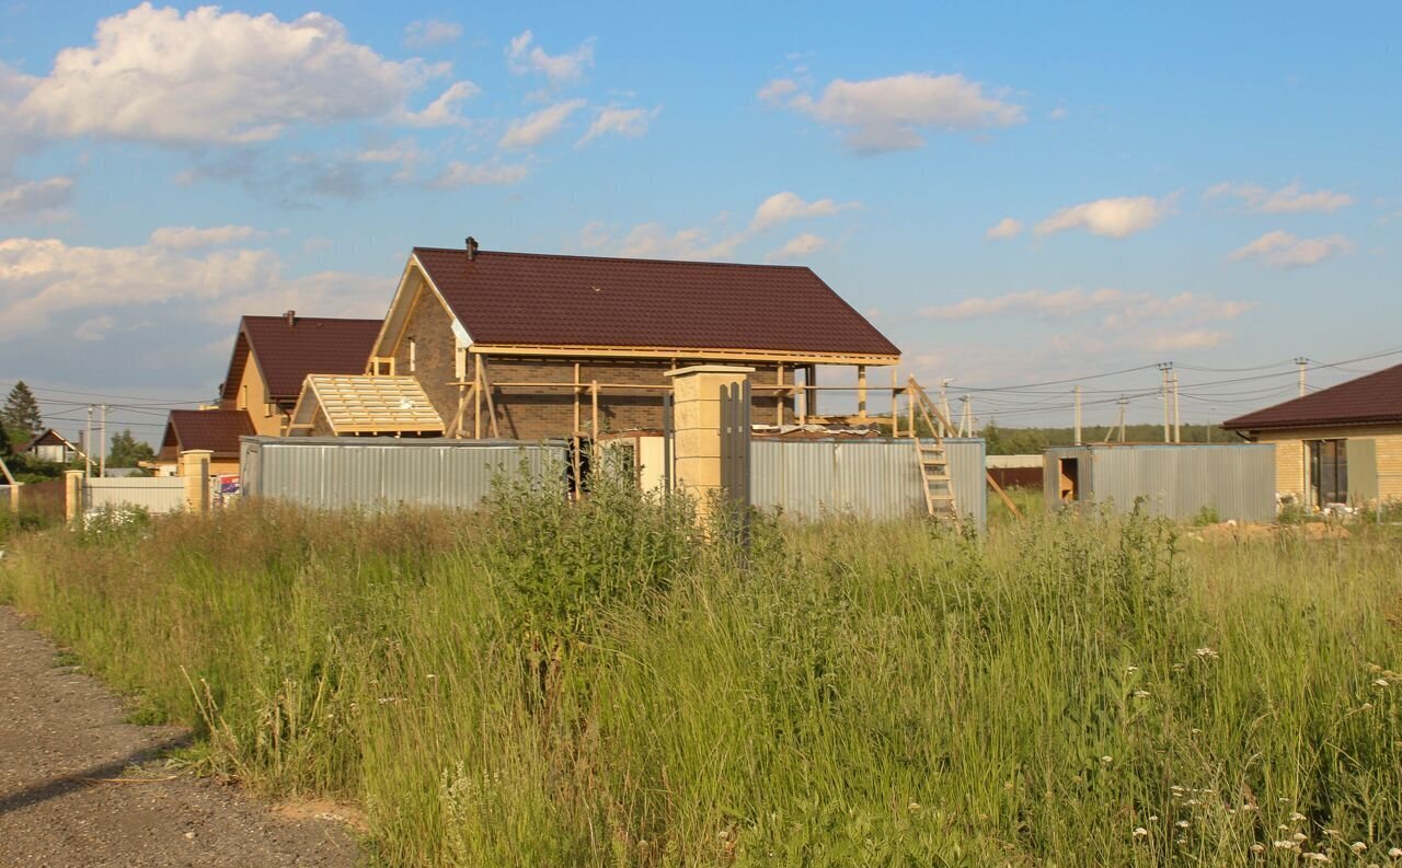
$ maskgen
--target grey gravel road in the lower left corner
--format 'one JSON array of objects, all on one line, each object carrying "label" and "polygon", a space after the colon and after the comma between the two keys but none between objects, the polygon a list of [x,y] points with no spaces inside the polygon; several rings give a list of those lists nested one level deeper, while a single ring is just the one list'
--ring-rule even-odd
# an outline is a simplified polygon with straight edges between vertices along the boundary
[{"label": "grey gravel road in the lower left corner", "polygon": [[0,606],[0,868],[356,864],[341,823],[286,819],[189,776],[160,780],[171,770],[154,757],[186,735],[122,717],[111,692],[57,668],[53,645]]}]

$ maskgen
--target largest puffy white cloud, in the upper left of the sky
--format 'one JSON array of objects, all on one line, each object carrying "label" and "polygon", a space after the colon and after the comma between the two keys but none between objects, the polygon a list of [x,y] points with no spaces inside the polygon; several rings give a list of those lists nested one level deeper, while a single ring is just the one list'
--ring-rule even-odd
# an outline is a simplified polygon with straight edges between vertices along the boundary
[{"label": "largest puffy white cloud, in the upper left of the sky", "polygon": [[59,52],[20,112],[56,136],[250,143],[289,125],[383,118],[444,64],[386,60],[335,18],[185,15],[143,3],[104,18],[90,48]]}]

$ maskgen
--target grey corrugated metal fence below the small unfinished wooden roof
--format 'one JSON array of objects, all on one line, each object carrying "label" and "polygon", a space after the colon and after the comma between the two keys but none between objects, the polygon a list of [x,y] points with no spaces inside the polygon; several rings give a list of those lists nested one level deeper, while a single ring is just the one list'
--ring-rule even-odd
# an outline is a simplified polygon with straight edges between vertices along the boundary
[{"label": "grey corrugated metal fence below the small unfinished wooden roof", "polygon": [[[245,497],[276,497],[315,508],[419,504],[470,508],[498,476],[515,476],[522,462],[541,476],[562,469],[562,444],[393,437],[244,437]],[[559,480],[561,491],[565,480]]]}]

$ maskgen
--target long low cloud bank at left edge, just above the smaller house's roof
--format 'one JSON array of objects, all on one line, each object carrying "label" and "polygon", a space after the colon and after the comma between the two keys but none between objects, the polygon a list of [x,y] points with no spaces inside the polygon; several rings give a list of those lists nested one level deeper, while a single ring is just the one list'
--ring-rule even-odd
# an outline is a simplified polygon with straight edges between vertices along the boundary
[{"label": "long low cloud bank at left edge, just above the smaller house's roof", "polygon": [[[289,279],[271,251],[200,253],[142,245],[74,246],[56,238],[0,241],[0,337],[34,336],[55,316],[83,312],[84,339],[107,318],[179,304],[212,321],[266,309],[321,309],[339,316],[384,312],[386,277],[322,272]],[[373,291],[372,291],[373,288]],[[286,307],[280,307],[286,305]]]}]

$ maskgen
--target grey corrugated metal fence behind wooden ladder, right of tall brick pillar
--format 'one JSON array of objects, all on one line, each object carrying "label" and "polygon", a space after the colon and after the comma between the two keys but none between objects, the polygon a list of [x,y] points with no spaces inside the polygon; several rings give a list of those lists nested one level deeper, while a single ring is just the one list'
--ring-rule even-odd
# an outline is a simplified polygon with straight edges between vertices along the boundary
[{"label": "grey corrugated metal fence behind wooden ladder, right of tall brick pillar", "polygon": [[[934,442],[934,441],[925,441]],[[945,440],[959,514],[987,522],[984,442]],[[910,440],[754,440],[751,501],[789,515],[851,514],[908,518],[925,512],[916,447]]]}]

